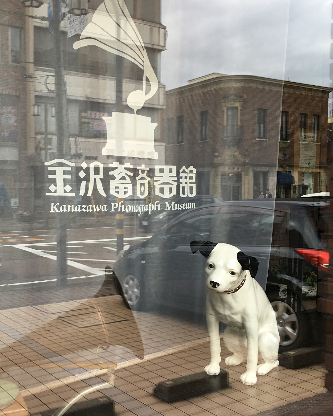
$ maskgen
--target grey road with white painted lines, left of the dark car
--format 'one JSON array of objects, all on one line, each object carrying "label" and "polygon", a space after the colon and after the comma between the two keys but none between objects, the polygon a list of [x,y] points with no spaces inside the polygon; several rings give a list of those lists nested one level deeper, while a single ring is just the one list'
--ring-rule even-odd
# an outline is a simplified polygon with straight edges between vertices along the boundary
[{"label": "grey road with white painted lines, left of the dark car", "polygon": [[[150,237],[136,227],[125,227],[124,249]],[[0,233],[2,289],[34,287],[57,281],[57,243],[54,230]],[[68,230],[68,281],[98,280],[116,259],[115,227]],[[24,264],[23,264],[24,263]],[[22,273],[22,270],[25,270]]]}]

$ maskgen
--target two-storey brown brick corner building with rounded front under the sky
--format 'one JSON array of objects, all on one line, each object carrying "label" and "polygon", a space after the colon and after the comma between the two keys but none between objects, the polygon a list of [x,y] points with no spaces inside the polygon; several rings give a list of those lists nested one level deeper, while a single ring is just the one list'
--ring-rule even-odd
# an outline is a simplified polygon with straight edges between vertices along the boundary
[{"label": "two-storey brown brick corner building with rounded front under the sky", "polygon": [[[191,80],[167,92],[161,123],[166,163],[193,165],[197,193],[225,200],[256,198],[266,187],[274,194],[277,167],[278,196],[296,197],[302,183],[326,190],[319,170],[326,166],[328,93],[326,87],[247,75]],[[316,143],[300,144],[302,132]],[[314,166],[304,167],[308,160]]]}]

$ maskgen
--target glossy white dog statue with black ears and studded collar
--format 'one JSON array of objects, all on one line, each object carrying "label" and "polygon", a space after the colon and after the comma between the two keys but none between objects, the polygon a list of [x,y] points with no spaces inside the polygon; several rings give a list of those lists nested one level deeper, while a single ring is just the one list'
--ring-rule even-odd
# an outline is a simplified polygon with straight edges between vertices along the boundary
[{"label": "glossy white dog statue with black ears and studded collar", "polygon": [[[224,344],[234,354],[227,365],[247,359],[244,384],[256,384],[257,376],[278,366],[279,334],[273,308],[262,287],[254,279],[258,260],[237,247],[211,241],[192,241],[192,253],[199,252],[206,261],[206,320],[210,338],[211,362],[207,374],[219,374],[221,345],[219,322],[227,328]],[[252,277],[251,277],[252,276]],[[264,363],[258,365],[258,351]]]}]

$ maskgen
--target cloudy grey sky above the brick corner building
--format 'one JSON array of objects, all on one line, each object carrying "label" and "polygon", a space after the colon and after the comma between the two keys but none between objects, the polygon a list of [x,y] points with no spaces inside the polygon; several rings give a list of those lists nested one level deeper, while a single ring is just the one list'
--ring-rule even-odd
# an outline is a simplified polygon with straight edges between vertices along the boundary
[{"label": "cloudy grey sky above the brick corner building", "polygon": [[211,72],[328,86],[332,0],[163,0],[167,89]]}]

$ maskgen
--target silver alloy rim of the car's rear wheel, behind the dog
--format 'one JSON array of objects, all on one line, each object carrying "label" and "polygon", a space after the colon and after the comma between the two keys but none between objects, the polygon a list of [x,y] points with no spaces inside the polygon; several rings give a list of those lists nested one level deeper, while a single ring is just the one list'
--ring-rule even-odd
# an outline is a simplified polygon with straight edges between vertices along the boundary
[{"label": "silver alloy rim of the car's rear wheel, behind the dog", "polygon": [[271,305],[278,324],[280,345],[283,347],[291,345],[296,340],[299,331],[296,313],[293,311],[293,308],[279,300],[271,302]]}]

